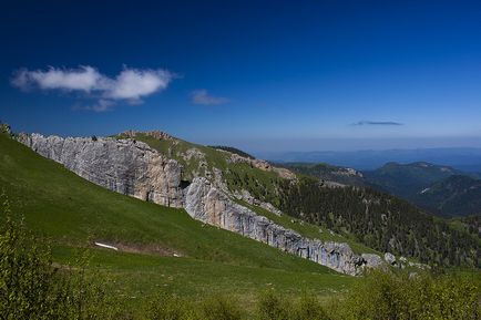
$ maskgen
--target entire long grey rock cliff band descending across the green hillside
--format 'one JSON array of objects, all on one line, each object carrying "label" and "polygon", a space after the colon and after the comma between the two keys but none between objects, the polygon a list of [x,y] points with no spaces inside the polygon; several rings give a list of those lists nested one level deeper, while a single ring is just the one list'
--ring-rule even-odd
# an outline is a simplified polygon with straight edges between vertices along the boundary
[{"label": "entire long grey rock cliff band descending across the green hillside", "polygon": [[211,182],[196,177],[188,185],[182,180],[182,166],[176,161],[145,143],[130,138],[62,138],[39,134],[20,134],[17,140],[100,186],[164,206],[185,207],[193,218],[203,223],[336,271],[359,275],[364,268],[381,264],[379,256],[358,256],[347,244],[308,239],[274,224],[235,203],[234,195],[215,178]]}]

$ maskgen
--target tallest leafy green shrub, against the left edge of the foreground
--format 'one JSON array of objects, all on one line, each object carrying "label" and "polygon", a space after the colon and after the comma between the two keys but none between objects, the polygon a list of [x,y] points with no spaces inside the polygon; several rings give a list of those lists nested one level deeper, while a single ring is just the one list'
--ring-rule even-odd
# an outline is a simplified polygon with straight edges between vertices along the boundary
[{"label": "tallest leafy green shrub, against the left edge of the foreground", "polygon": [[[48,319],[61,313],[65,299],[51,257],[2,203],[4,224],[0,230],[0,310],[3,319]],[[59,288],[60,287],[60,288]]]}]

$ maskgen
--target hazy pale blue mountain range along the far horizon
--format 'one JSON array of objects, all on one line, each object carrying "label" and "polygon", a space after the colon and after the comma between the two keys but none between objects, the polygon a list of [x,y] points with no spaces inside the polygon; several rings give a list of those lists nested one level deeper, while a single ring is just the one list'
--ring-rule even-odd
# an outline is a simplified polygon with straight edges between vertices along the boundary
[{"label": "hazy pale blue mountain range along the far horizon", "polygon": [[354,152],[278,152],[256,156],[276,163],[328,163],[372,171],[386,163],[428,162],[454,167],[462,172],[481,172],[481,148],[418,148]]}]

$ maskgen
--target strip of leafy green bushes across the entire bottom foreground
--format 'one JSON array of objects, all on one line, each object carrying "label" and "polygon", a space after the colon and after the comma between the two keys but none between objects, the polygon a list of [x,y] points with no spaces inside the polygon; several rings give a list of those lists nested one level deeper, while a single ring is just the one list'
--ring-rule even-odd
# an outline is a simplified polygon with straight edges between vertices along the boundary
[{"label": "strip of leafy green bushes across the entire bottom foreground", "polygon": [[[373,271],[350,291],[320,301],[275,290],[262,292],[246,310],[226,296],[186,299],[158,289],[140,307],[112,299],[103,288],[108,276],[53,265],[51,251],[12,215],[3,200],[0,229],[1,319],[171,319],[171,320],[323,320],[323,319],[479,319],[480,278],[472,275],[392,273]],[[89,270],[91,271],[91,270]],[[146,302],[145,302],[146,301]]]}]

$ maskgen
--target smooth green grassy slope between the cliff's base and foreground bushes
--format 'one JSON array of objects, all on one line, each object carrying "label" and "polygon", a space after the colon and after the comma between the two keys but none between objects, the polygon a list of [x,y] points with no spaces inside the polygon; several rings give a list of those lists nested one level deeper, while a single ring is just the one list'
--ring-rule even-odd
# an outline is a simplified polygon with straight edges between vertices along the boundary
[{"label": "smooth green grassy slope between the cliff's base and foreground bushes", "polygon": [[187,296],[214,292],[250,301],[276,287],[285,292],[339,290],[355,279],[238,235],[203,225],[172,209],[109,192],[0,135],[0,188],[25,223],[50,238],[59,262],[93,240],[164,248],[183,258],[93,249],[122,297],[160,288]]}]

